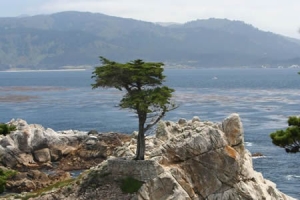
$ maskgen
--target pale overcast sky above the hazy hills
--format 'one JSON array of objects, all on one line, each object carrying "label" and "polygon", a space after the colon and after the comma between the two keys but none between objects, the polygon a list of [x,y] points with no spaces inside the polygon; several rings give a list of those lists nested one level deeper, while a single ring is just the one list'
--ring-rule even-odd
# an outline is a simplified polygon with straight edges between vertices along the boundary
[{"label": "pale overcast sky above the hazy hills", "polygon": [[300,39],[300,0],[0,0],[0,17],[67,10],[150,22],[227,18]]}]

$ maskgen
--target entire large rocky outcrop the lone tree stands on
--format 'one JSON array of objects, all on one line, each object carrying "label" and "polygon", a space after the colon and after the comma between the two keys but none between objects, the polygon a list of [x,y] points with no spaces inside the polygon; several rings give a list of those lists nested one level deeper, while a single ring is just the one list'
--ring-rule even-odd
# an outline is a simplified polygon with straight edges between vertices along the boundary
[{"label": "entire large rocky outcrop the lone tree stands on", "polygon": [[[160,122],[156,135],[146,139],[145,161],[132,160],[135,144],[132,138],[115,148],[112,155],[127,157],[111,157],[91,168],[70,186],[72,192],[60,189],[38,199],[293,199],[254,171],[237,114],[220,124],[197,117]],[[118,189],[122,177],[127,176],[144,182],[129,196]]]}]

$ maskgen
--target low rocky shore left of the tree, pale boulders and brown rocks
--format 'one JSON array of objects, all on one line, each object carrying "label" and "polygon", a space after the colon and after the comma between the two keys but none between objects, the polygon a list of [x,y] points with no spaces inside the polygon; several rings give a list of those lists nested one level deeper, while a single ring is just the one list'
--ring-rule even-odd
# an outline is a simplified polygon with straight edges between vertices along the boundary
[{"label": "low rocky shore left of the tree, pale boulders and brown rocks", "polygon": [[19,171],[7,181],[6,189],[12,192],[34,191],[70,179],[68,171],[101,163],[131,139],[117,133],[55,132],[22,119],[9,124],[17,130],[0,137],[0,166]]}]

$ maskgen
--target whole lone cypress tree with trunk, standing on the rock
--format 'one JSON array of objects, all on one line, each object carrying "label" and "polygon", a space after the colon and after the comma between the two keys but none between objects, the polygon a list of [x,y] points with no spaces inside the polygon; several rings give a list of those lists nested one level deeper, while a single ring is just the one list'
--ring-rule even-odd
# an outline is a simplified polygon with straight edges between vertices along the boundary
[{"label": "whole lone cypress tree with trunk, standing on the rock", "polygon": [[163,63],[137,59],[118,63],[100,57],[102,66],[96,67],[93,88],[116,88],[125,91],[119,106],[133,110],[139,120],[136,159],[143,160],[145,132],[153,127],[166,112],[176,108],[172,103],[174,90],[163,85]]}]

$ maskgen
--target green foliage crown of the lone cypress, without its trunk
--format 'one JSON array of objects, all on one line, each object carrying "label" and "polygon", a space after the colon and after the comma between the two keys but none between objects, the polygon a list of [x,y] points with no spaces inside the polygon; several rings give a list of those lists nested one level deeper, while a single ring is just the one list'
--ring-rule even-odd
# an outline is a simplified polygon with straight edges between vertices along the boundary
[{"label": "green foliage crown of the lone cypress, without its trunk", "polygon": [[129,108],[137,113],[153,113],[157,109],[167,110],[171,105],[173,89],[161,86],[165,79],[163,63],[145,63],[135,60],[125,64],[110,61],[100,57],[103,66],[97,67],[92,78],[96,83],[93,88],[114,87],[118,90],[126,90],[126,94],[120,102],[121,108]]}]

